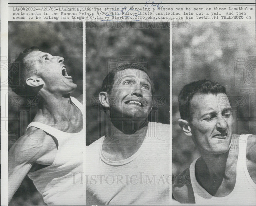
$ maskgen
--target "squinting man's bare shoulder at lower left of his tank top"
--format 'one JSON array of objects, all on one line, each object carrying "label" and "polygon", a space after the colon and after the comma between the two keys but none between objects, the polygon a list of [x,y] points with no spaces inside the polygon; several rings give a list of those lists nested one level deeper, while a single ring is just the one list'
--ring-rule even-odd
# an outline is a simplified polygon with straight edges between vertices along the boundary
[{"label": "squinting man's bare shoulder at lower left of his tank top", "polygon": [[173,181],[173,196],[180,203],[195,203],[189,168],[175,177]]}]

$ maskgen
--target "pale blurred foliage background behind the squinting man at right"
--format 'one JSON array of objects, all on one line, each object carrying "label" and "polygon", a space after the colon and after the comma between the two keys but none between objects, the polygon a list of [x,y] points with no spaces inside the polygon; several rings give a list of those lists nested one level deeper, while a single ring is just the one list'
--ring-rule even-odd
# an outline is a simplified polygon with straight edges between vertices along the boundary
[{"label": "pale blurred foliage background behind the squinting man at right", "polygon": [[173,27],[172,60],[173,175],[177,175],[199,156],[178,125],[178,94],[184,85],[201,79],[224,85],[231,107],[238,109],[236,132],[256,133],[255,22],[191,22],[189,28]]}]

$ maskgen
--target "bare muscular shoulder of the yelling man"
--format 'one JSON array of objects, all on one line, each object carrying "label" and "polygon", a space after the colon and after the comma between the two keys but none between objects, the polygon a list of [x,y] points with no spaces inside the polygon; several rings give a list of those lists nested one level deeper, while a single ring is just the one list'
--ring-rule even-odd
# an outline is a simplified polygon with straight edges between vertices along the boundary
[{"label": "bare muscular shoulder of the yelling man", "polygon": [[8,151],[10,158],[16,162],[34,162],[56,147],[51,136],[42,129],[30,127]]}]

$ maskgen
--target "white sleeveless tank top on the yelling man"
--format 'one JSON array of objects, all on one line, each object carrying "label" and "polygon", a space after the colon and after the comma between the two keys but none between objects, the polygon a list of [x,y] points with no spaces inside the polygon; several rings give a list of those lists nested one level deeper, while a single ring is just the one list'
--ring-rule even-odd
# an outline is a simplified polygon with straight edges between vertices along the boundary
[{"label": "white sleeveless tank top on the yelling man", "polygon": [[[74,97],[71,100],[84,115],[83,105]],[[27,128],[32,126],[44,130],[58,140],[54,162],[50,166],[28,173],[44,202],[48,205],[84,205],[84,129],[78,133],[66,133],[40,122],[31,122]]]}]

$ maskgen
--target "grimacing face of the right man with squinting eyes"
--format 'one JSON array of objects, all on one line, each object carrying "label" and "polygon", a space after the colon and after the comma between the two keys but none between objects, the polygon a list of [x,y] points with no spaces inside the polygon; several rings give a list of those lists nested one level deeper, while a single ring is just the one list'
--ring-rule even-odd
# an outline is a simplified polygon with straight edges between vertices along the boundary
[{"label": "grimacing face of the right man with squinting eyes", "polygon": [[[222,104],[222,103],[225,103]],[[231,144],[233,117],[226,94],[195,94],[190,102],[192,138],[199,150],[226,153]]]}]

